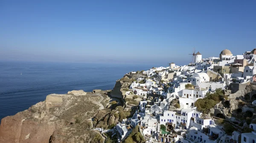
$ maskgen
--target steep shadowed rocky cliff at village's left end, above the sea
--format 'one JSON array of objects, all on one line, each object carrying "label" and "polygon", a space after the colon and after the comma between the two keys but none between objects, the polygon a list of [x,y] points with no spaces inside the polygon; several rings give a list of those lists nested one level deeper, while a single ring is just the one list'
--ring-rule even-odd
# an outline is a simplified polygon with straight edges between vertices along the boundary
[{"label": "steep shadowed rocky cliff at village's left end, above the sea", "polygon": [[133,82],[133,79],[129,79],[127,76],[124,76],[122,79],[116,81],[116,85],[111,91],[111,96],[116,98],[124,98],[125,91],[128,91],[129,86]]}]

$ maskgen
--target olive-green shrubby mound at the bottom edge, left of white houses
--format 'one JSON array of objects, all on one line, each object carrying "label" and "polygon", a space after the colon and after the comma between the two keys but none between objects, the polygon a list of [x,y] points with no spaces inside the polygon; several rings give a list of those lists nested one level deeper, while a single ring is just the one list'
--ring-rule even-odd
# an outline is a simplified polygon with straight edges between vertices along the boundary
[{"label": "olive-green shrubby mound at the bottom edge, left of white houses", "polygon": [[144,143],[146,140],[141,135],[139,126],[135,126],[131,134],[125,139],[124,143]]}]

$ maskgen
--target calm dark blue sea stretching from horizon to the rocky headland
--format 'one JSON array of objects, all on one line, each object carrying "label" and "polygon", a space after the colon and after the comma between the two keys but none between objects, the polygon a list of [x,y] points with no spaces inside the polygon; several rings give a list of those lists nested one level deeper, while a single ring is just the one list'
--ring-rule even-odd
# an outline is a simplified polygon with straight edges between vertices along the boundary
[{"label": "calm dark blue sea stretching from horizon to the rocky headland", "polygon": [[[44,101],[51,93],[113,89],[125,73],[154,65],[0,62],[0,119]],[[22,73],[22,74],[20,74]]]}]

